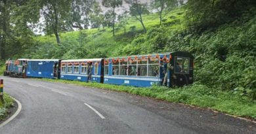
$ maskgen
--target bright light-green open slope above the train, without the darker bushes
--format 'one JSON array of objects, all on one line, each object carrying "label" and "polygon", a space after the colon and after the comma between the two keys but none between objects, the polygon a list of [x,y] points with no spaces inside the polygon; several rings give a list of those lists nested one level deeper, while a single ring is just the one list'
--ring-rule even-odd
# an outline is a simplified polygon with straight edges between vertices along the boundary
[{"label": "bright light-green open slope above the train, without the darker bushes", "polygon": [[[184,19],[183,16],[184,10],[182,8],[173,10],[166,15],[162,28],[168,28],[169,31],[182,31],[182,29],[184,29],[181,23]],[[145,14],[142,17],[149,32],[152,29],[158,29],[158,14]],[[112,36],[112,28],[108,27],[105,29],[86,29],[83,31],[60,33],[61,46],[57,46],[54,35],[35,37],[37,44],[35,44],[36,46],[32,51],[36,54],[30,53],[24,57],[70,59],[104,58],[131,54],[131,52],[127,53],[125,48],[130,47],[129,44],[142,36],[142,26],[133,17],[127,18],[127,22],[129,22],[129,24],[126,26],[126,33],[124,33],[123,29],[117,27],[115,37]],[[49,47],[53,49],[49,50]],[[31,52],[31,50],[29,50],[29,52]],[[58,52],[58,54],[56,54],[56,52]],[[149,52],[152,52],[152,50]],[[164,52],[164,50],[162,50],[162,52]],[[146,53],[148,52],[137,52],[136,54]]]}]

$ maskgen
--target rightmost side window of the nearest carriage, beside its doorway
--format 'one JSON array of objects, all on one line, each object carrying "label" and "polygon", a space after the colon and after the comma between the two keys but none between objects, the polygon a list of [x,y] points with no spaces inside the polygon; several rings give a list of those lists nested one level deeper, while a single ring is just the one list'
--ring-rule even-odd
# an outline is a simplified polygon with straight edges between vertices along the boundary
[{"label": "rightmost side window of the nearest carriage, beside its doorway", "polygon": [[148,76],[159,76],[159,59],[152,58],[148,61]]}]

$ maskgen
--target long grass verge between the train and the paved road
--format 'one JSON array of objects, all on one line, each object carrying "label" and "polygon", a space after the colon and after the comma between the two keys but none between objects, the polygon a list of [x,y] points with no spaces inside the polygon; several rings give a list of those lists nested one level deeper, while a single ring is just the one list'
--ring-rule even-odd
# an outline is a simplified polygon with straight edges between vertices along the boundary
[{"label": "long grass verge between the train and the paved road", "polygon": [[208,88],[199,83],[194,83],[192,86],[184,86],[182,88],[166,88],[162,86],[137,88],[132,86],[117,86],[112,84],[87,83],[71,80],[42,80],[114,90],[117,92],[127,92],[173,103],[183,103],[186,105],[218,110],[234,116],[242,116],[256,120],[256,101],[251,101],[249,97],[234,95],[232,92]]}]

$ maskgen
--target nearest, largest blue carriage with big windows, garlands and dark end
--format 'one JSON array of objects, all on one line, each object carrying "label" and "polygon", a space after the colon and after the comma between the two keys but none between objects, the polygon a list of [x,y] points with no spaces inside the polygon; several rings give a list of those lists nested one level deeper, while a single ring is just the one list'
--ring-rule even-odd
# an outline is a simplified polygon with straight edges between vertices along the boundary
[{"label": "nearest, largest blue carriage with big windows, garlands and dark end", "polygon": [[104,83],[145,87],[163,84],[167,75],[166,86],[192,84],[193,59],[187,52],[108,58],[104,61]]}]

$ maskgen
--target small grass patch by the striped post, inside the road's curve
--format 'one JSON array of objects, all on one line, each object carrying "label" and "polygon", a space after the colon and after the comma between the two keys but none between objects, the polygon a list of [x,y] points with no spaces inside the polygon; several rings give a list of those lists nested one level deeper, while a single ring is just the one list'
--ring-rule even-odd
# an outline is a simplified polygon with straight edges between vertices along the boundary
[{"label": "small grass patch by the striped post, inside the road's curve", "polygon": [[0,101],[0,120],[3,120],[7,116],[8,109],[11,108],[14,103],[14,100],[7,93],[4,93],[3,99],[5,103],[1,103]]}]

